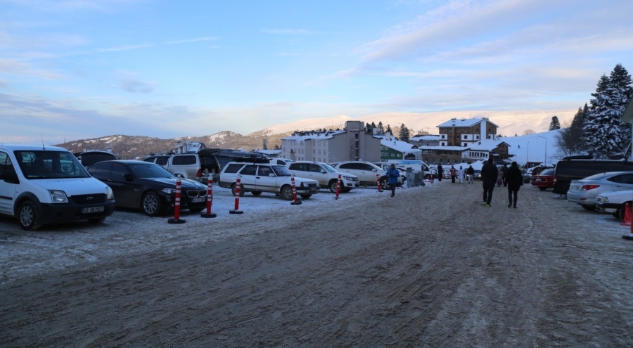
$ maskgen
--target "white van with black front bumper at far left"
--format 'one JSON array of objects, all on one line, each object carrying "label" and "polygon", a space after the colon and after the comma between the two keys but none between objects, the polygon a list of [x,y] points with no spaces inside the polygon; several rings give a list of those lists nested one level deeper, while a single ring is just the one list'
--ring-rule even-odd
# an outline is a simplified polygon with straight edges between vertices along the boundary
[{"label": "white van with black front bumper at far left", "polygon": [[20,227],[77,220],[98,223],[115,209],[112,189],[65,148],[0,144],[0,214]]}]

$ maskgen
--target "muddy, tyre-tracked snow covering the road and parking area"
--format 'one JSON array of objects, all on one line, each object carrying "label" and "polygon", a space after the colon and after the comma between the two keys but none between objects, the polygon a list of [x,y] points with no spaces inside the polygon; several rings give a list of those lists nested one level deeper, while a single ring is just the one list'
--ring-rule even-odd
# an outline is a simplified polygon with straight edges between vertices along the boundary
[{"label": "muddy, tyre-tracked snow covering the road and parking area", "polygon": [[549,191],[214,196],[184,224],[0,218],[0,346],[633,346],[630,228]]}]

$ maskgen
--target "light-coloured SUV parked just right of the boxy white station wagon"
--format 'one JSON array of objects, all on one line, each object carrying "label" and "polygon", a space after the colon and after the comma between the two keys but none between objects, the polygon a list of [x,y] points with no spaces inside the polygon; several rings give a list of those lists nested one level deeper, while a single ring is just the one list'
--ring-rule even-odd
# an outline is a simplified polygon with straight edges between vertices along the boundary
[{"label": "light-coloured SUV parked just right of the boxy white station wagon", "polygon": [[350,192],[352,188],[360,186],[357,176],[338,172],[338,170],[324,162],[294,161],[286,166],[290,169],[290,172],[295,173],[297,176],[319,181],[319,185],[322,188],[328,188],[332,193],[336,193],[339,175],[341,192]]}]

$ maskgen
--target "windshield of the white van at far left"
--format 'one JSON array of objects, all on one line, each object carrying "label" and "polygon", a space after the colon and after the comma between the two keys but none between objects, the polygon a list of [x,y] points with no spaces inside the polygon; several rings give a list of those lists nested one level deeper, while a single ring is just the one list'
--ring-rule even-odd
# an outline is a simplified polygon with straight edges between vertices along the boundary
[{"label": "windshield of the white van at far left", "polygon": [[15,150],[18,165],[27,179],[87,178],[90,176],[70,152]]}]

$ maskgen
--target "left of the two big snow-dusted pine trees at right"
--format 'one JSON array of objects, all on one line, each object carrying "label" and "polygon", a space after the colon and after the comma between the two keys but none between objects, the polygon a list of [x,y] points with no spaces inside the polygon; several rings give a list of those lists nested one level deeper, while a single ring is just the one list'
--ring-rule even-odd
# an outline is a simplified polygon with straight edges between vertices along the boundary
[{"label": "left of the two big snow-dusted pine trees at right", "polygon": [[613,108],[615,90],[606,75],[600,77],[591,100],[592,107],[584,122],[587,151],[596,159],[607,159],[622,150],[620,116]]}]

